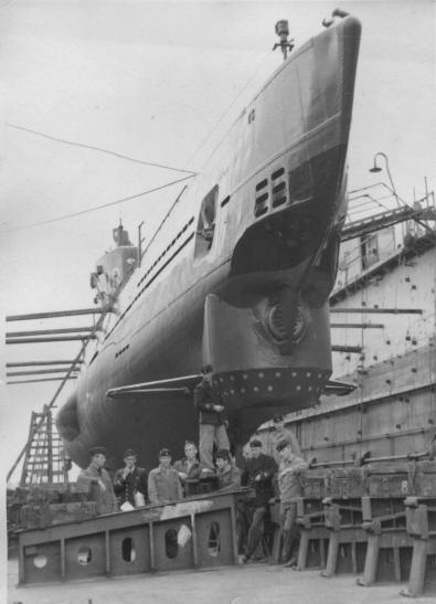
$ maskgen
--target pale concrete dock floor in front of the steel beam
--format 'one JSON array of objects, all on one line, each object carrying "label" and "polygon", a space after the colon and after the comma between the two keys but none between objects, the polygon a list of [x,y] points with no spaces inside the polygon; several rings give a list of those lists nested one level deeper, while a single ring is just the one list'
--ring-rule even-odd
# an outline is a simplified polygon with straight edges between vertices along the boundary
[{"label": "pale concrete dock floor in front of the steel beam", "polygon": [[[8,604],[405,604],[405,584],[360,587],[355,575],[248,564],[123,579],[17,587],[18,562],[8,563]],[[436,593],[416,598],[435,604]]]}]

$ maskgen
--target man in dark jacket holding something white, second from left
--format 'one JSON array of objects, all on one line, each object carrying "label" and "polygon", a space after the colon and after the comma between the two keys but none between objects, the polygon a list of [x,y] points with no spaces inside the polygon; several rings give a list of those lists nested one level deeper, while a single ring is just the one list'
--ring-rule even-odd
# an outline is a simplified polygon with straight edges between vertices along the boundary
[{"label": "man in dark jacket holding something white, second from left", "polygon": [[114,477],[114,490],[118,505],[129,502],[134,508],[145,506],[147,501],[147,471],[137,466],[138,456],[128,448],[123,455],[125,467],[117,469]]}]

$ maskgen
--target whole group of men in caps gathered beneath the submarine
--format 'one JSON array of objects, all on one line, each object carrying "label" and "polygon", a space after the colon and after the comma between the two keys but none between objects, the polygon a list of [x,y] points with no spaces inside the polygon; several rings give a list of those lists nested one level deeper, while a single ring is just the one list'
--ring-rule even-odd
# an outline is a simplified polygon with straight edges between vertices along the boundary
[{"label": "whole group of men in caps gathered beneath the submarine", "polygon": [[[194,404],[200,412],[200,452],[195,443],[185,441],[184,457],[172,464],[171,452],[162,448],[158,467],[147,475],[146,469],[138,466],[136,452],[128,448],[124,454],[124,467],[111,478],[105,468],[105,447],[94,447],[89,452],[91,464],[81,471],[77,484],[85,489],[95,489],[93,499],[98,513],[131,510],[147,504],[171,504],[190,495],[190,485],[211,476],[219,491],[251,487],[253,496],[237,510],[237,538],[244,563],[262,558],[269,502],[278,497],[281,559],[293,566],[298,548],[296,500],[301,495],[300,471],[308,464],[302,459],[296,436],[285,428],[283,415],[276,414],[273,418],[275,455],[265,454],[262,441],[255,436],[244,451],[240,469],[230,452],[224,405],[212,371],[211,365],[202,368],[203,379],[194,391]],[[217,451],[213,458],[214,445]]]}]

